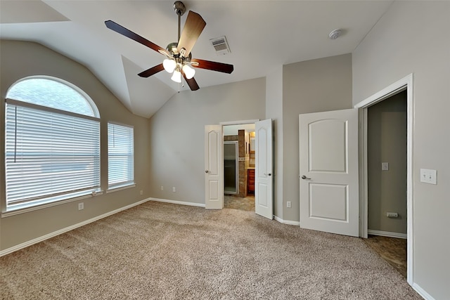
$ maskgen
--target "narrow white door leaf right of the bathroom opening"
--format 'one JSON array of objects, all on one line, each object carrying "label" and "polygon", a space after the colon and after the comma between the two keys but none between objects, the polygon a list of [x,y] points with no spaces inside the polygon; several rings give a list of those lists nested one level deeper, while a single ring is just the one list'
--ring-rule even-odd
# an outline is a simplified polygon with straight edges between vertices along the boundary
[{"label": "narrow white door leaf right of the bathroom opening", "polygon": [[255,122],[255,212],[273,219],[272,119]]}]

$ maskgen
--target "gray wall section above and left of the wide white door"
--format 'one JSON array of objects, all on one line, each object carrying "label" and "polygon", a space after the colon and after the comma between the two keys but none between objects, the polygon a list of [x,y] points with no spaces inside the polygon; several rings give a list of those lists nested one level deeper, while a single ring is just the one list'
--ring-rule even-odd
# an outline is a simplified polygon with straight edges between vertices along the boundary
[{"label": "gray wall section above and left of the wide white door", "polygon": [[[300,220],[298,115],[352,108],[352,55],[283,67],[283,219]],[[286,202],[292,208],[286,208]]]}]

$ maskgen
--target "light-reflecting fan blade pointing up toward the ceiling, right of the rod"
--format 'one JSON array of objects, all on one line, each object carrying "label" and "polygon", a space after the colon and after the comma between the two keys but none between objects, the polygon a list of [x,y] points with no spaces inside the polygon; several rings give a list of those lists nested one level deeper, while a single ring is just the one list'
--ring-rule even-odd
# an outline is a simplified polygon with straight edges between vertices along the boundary
[{"label": "light-reflecting fan blade pointing up toward the ceiling, right of the rod", "polygon": [[180,40],[178,41],[178,53],[181,53],[181,48],[186,49],[185,57],[189,56],[195,42],[197,41],[200,34],[205,28],[206,22],[203,20],[202,16],[193,11],[189,11],[188,18],[184,23],[183,32],[181,32]]}]

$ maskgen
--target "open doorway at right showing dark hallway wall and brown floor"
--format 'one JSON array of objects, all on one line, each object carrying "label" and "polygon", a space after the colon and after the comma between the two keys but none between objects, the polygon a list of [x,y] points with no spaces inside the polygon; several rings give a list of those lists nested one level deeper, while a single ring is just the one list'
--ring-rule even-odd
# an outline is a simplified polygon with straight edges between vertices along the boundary
[{"label": "open doorway at right showing dark hallway wall and brown floor", "polygon": [[406,91],[367,108],[368,238],[406,278]]}]

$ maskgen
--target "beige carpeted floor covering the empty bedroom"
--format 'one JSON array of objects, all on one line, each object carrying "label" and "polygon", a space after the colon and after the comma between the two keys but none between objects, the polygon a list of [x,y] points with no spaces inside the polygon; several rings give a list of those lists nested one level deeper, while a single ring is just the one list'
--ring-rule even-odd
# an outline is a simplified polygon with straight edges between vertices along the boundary
[{"label": "beige carpeted floor covering the empty bedroom", "polygon": [[0,299],[421,299],[359,238],[160,202],[0,258]]}]

